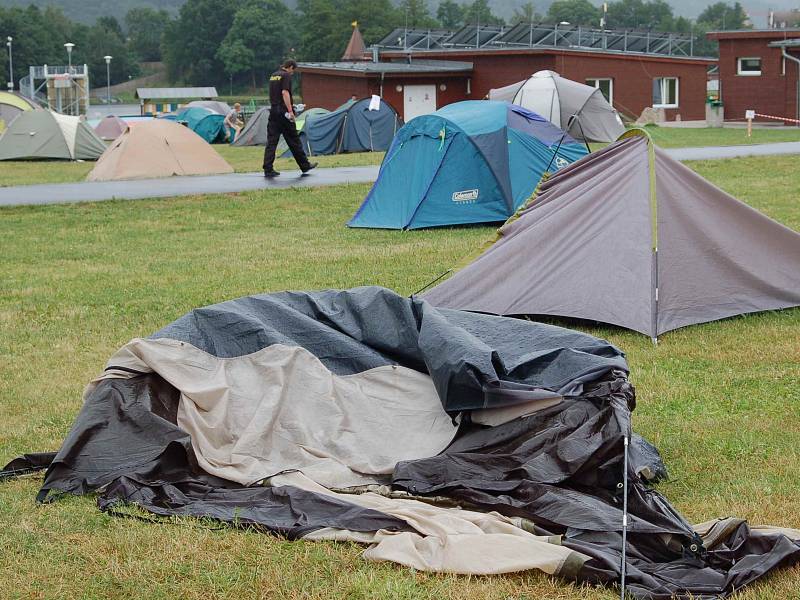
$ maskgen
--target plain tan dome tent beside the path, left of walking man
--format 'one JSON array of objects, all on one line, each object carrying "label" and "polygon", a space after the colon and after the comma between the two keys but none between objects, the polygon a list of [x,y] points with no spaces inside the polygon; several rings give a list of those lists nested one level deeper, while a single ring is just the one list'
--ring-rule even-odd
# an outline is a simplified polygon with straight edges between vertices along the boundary
[{"label": "plain tan dome tent beside the path, left of walking man", "polygon": [[183,125],[156,119],[119,136],[86,179],[111,181],[219,173],[233,173],[233,167],[203,138]]}]

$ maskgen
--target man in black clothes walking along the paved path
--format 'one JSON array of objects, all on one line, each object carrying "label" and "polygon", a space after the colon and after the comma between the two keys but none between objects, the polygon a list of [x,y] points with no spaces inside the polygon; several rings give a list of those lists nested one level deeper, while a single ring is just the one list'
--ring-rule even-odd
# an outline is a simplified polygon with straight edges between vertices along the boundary
[{"label": "man in black clothes walking along the paved path", "polygon": [[284,61],[280,69],[269,78],[269,121],[267,121],[267,145],[264,148],[264,177],[277,177],[275,170],[275,150],[281,135],[286,140],[297,166],[303,173],[308,173],[318,163],[308,161],[300,134],[297,133],[292,103],[292,74],[297,63],[292,59]]}]

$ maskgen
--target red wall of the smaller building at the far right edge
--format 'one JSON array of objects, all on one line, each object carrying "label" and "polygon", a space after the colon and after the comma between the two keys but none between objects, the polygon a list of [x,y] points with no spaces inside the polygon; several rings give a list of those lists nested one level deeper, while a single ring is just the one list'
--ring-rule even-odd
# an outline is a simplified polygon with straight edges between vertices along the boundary
[{"label": "red wall of the smaller building at the far right edge", "polygon": [[[798,118],[797,64],[787,60],[786,75],[781,75],[780,48],[768,46],[773,39],[774,36],[719,40],[719,79],[726,119],[744,120],[745,111],[750,109]],[[737,75],[737,59],[750,57],[761,58],[761,75]]]}]

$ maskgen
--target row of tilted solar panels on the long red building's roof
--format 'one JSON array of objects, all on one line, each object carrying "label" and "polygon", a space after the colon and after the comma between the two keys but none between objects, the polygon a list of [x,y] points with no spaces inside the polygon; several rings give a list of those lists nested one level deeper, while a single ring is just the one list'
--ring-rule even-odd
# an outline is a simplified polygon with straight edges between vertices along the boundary
[{"label": "row of tilted solar panels on the long red building's roof", "polygon": [[638,29],[597,29],[576,25],[518,23],[510,26],[468,25],[458,31],[393,30],[374,47],[383,51],[425,50],[590,50],[657,56],[694,57],[695,36]]}]

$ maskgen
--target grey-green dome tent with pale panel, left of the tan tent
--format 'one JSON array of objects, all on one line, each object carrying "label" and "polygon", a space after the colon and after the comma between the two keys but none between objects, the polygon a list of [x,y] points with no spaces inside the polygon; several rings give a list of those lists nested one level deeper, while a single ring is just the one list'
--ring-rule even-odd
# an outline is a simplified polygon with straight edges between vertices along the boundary
[{"label": "grey-green dome tent with pale panel, left of the tan tent", "polygon": [[84,119],[42,108],[20,113],[0,137],[0,160],[97,160],[105,149]]}]

